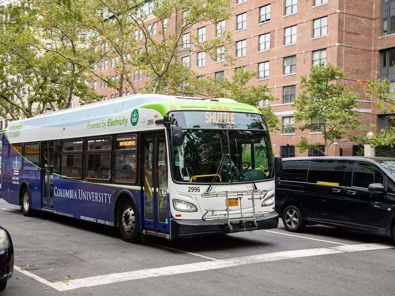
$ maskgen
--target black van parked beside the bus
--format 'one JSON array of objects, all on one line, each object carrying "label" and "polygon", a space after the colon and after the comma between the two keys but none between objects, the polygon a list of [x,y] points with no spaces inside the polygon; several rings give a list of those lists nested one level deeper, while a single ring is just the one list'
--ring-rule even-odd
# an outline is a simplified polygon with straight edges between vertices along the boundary
[{"label": "black van parked beside the bus", "polygon": [[323,224],[395,240],[395,158],[284,158],[276,212],[289,231]]}]

